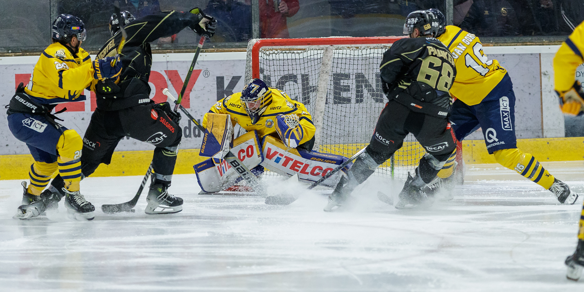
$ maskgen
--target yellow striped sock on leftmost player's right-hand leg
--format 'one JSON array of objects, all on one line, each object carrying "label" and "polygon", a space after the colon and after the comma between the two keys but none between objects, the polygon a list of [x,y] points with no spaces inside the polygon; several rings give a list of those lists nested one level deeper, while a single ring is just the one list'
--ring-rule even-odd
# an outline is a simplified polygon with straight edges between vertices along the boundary
[{"label": "yellow striped sock on leftmost player's right-hand leg", "polygon": [[71,192],[79,190],[82,148],[83,140],[75,130],[65,130],[57,143],[59,173]]}]

